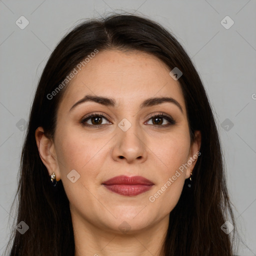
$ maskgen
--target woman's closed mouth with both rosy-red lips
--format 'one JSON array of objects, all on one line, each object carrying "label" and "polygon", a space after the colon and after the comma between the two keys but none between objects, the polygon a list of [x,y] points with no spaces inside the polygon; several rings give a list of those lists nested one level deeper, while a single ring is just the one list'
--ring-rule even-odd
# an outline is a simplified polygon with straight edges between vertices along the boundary
[{"label": "woman's closed mouth with both rosy-red lips", "polygon": [[115,176],[102,182],[105,188],[120,195],[135,196],[151,189],[154,185],[142,176]]}]

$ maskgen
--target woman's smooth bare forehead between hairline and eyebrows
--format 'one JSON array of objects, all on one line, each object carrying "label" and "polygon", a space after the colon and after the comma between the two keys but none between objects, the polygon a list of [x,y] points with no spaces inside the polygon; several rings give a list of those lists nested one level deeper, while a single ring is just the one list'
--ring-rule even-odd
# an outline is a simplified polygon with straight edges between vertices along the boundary
[{"label": "woman's smooth bare forehead between hairline and eyebrows", "polygon": [[99,51],[71,79],[59,108],[71,107],[86,94],[115,98],[118,105],[139,105],[149,97],[170,96],[185,108],[178,81],[156,56],[141,51]]}]

